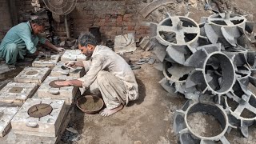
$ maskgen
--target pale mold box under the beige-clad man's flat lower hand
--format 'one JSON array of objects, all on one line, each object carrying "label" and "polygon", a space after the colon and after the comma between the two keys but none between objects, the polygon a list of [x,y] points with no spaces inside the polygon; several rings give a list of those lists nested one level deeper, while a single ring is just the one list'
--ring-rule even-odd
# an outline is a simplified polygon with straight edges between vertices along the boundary
[{"label": "pale mold box under the beige-clad man's flat lower hand", "polygon": [[38,98],[52,98],[65,100],[66,104],[71,104],[74,100],[74,96],[78,91],[77,86],[57,86],[55,81],[64,81],[76,79],[67,76],[61,77],[47,77],[42,85],[38,88]]}]

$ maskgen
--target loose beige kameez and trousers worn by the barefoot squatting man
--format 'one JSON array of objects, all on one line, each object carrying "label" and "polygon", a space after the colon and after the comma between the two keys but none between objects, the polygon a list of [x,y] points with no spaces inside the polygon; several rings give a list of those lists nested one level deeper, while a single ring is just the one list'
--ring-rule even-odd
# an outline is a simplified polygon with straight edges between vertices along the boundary
[{"label": "loose beige kameez and trousers worn by the barefoot squatting man", "polygon": [[[84,61],[87,73],[78,78],[82,90],[97,87],[108,109],[127,105],[138,98],[138,84],[126,61],[106,46],[96,46],[90,61]],[[92,88],[90,88],[92,89]]]}]

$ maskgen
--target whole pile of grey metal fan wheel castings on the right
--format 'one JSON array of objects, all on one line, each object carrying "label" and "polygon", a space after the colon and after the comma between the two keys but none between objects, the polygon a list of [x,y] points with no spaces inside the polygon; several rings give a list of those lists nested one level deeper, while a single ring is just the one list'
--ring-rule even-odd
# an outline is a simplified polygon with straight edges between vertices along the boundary
[{"label": "whole pile of grey metal fan wheel castings on the right", "polygon": [[[226,12],[202,18],[198,25],[191,18],[168,14],[150,26],[154,54],[161,61],[155,67],[164,75],[159,83],[189,99],[174,116],[180,142],[229,143],[224,134],[230,128],[239,128],[248,137],[248,126],[256,120],[256,97],[251,90],[256,87],[256,68],[255,54],[245,43],[250,41],[254,22]],[[200,111],[220,122],[221,134],[202,137],[191,130],[186,118]]]}]

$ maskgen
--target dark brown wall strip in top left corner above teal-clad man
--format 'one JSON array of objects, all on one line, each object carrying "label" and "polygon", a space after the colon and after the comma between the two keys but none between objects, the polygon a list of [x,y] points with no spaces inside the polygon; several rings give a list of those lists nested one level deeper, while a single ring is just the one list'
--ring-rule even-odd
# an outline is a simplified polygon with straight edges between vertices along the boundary
[{"label": "dark brown wall strip in top left corner above teal-clad man", "polygon": [[12,27],[10,18],[10,10],[8,0],[0,0],[0,39],[2,39],[6,32]]}]

